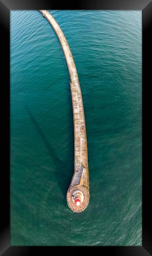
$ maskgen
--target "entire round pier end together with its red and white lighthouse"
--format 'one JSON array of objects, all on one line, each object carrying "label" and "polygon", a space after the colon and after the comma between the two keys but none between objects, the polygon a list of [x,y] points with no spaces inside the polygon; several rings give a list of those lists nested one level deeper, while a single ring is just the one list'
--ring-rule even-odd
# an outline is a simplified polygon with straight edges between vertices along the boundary
[{"label": "entire round pier end together with its red and white lighthouse", "polygon": [[67,191],[67,204],[72,211],[81,212],[89,203],[89,191],[86,187],[77,184]]}]

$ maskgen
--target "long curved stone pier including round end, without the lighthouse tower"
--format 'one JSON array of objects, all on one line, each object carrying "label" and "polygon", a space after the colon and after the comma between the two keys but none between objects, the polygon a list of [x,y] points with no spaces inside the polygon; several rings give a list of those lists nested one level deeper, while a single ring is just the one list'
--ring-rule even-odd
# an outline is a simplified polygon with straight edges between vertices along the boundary
[{"label": "long curved stone pier including round end, without the lighthouse tower", "polygon": [[[60,26],[47,10],[39,11],[49,21],[58,36],[69,69],[74,119],[74,174],[67,191],[67,203],[72,211],[81,212],[85,210],[89,203],[89,174],[85,116],[79,78],[70,47]],[[83,201],[80,206],[77,206],[72,199],[74,198],[75,191],[80,191],[83,194]]]}]

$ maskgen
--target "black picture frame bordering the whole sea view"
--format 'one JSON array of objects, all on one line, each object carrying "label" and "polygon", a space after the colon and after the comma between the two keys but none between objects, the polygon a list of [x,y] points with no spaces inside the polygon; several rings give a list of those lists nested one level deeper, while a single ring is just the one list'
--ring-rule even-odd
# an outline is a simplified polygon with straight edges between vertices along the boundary
[{"label": "black picture frame bordering the whole sea view", "polygon": [[[24,9],[104,9],[104,10],[142,10],[142,246],[103,246],[98,247],[101,253],[116,256],[149,256],[152,254],[152,230],[150,228],[152,216],[152,196],[150,191],[150,166],[151,166],[151,95],[149,93],[151,78],[150,55],[152,58],[152,1],[150,0],[82,0],[81,2],[65,2],[46,0],[2,0],[0,1],[0,26],[1,26],[1,138],[2,138],[2,160],[1,160],[1,229],[0,229],[0,252],[1,255],[50,255],[52,247],[45,246],[10,246],[10,10]],[[5,96],[4,96],[5,95]],[[2,100],[1,100],[2,102]],[[3,163],[3,165],[2,165]],[[1,186],[2,187],[2,186]],[[81,247],[82,248],[82,247]],[[76,249],[78,252],[80,248]]]}]

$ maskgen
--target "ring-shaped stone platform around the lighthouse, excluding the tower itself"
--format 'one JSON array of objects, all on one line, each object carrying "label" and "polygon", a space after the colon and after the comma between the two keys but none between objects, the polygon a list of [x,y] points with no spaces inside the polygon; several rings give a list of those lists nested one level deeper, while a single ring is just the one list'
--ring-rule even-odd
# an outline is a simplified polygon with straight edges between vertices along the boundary
[{"label": "ring-shaped stone platform around the lighthouse, excluding the tower itself", "polygon": [[[76,205],[73,200],[76,191],[80,191],[83,194],[83,201],[81,202],[80,205]],[[74,185],[74,186],[70,187],[70,189],[68,189],[67,204],[72,211],[81,212],[81,211],[85,210],[88,203],[89,203],[89,191],[87,190],[86,187],[78,184],[78,185]]]}]

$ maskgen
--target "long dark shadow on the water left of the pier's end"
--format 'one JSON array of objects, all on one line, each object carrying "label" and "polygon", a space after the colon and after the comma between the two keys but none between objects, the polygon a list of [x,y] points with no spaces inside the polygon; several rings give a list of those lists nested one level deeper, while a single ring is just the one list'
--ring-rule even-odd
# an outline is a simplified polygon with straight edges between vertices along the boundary
[{"label": "long dark shadow on the water left of the pier's end", "polygon": [[[36,130],[38,131],[38,134],[40,135],[40,137],[42,138],[48,152],[49,155],[51,156],[54,165],[56,166],[56,172],[55,172],[55,178],[56,178],[56,182],[58,183],[58,186],[60,187],[62,193],[63,193],[63,197],[66,198],[66,194],[67,194],[67,189],[69,187],[71,178],[72,178],[72,170],[71,170],[71,174],[69,173],[69,168],[67,168],[68,165],[68,161],[62,161],[57,154],[54,152],[53,147],[50,145],[50,143],[48,142],[45,134],[42,132],[42,129],[40,128],[38,122],[36,121],[34,115],[31,113],[31,111],[29,110],[29,108],[27,106],[25,106],[25,109],[31,119],[31,121],[33,122],[34,126],[36,127]],[[69,175],[70,174],[70,175]]]}]

